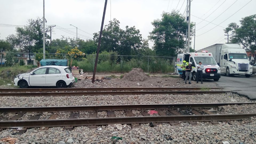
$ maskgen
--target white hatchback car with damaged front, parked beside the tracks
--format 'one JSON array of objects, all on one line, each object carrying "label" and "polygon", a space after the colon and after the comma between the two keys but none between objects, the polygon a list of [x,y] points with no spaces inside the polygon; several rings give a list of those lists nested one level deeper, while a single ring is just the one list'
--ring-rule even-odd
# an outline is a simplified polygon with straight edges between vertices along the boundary
[{"label": "white hatchback car with damaged front, parked beside the tracks", "polygon": [[42,66],[30,73],[19,74],[14,85],[21,88],[29,86],[56,86],[65,88],[74,83],[75,78],[68,66]]}]

